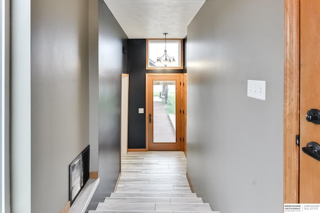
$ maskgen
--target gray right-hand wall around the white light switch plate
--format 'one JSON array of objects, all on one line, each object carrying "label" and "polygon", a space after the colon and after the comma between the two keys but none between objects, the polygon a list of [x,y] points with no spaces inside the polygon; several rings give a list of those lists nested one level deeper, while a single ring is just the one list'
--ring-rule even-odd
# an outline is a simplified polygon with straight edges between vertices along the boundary
[{"label": "gray right-hand wall around the white light switch plate", "polygon": [[207,0],[188,26],[187,173],[221,213],[282,212],[283,5]]}]

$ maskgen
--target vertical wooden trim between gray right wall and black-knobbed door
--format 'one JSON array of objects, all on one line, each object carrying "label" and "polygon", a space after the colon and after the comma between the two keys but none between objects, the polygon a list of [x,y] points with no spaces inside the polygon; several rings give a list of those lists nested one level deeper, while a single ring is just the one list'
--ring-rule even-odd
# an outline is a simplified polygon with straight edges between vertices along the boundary
[{"label": "vertical wooden trim between gray right wall and black-knobbed door", "polygon": [[284,0],[283,203],[299,203],[300,0]]}]

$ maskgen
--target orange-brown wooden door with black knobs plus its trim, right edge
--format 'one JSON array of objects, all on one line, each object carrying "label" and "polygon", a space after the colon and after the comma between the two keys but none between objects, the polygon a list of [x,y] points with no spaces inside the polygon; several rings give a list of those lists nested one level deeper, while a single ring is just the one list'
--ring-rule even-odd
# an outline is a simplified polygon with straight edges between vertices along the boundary
[{"label": "orange-brown wooden door with black knobs plus its trim, right edge", "polygon": [[285,0],[284,203],[320,202],[320,162],[313,155],[316,147],[308,146],[320,143],[320,125],[306,116],[310,109],[320,109],[319,9],[317,0]]}]

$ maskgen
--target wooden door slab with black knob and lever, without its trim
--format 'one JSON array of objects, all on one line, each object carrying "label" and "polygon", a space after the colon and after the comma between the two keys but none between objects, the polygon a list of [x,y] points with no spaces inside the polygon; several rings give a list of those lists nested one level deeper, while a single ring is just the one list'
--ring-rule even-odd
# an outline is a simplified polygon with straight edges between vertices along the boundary
[{"label": "wooden door slab with black knob and lever, without its trim", "polygon": [[[300,169],[299,203],[320,203],[320,161],[302,152],[320,143],[320,125],[306,121],[309,109],[320,109],[320,0],[300,1]],[[319,152],[320,154],[320,152]]]}]

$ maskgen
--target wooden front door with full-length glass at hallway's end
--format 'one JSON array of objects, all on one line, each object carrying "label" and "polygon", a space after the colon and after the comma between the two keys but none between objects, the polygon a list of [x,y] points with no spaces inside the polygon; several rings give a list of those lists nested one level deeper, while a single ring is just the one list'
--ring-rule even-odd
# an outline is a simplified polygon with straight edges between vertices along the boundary
[{"label": "wooden front door with full-length glass at hallway's end", "polygon": [[182,74],[146,74],[147,150],[181,150]]}]

